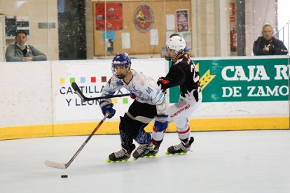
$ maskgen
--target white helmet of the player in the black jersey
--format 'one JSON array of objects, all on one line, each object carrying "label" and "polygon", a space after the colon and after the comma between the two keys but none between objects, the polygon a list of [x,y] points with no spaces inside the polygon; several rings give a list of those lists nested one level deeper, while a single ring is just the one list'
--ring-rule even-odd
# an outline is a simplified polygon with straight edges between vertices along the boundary
[{"label": "white helmet of the player in the black jersey", "polygon": [[[163,47],[163,54],[166,60],[174,60],[178,55],[184,53],[184,48],[186,48],[186,42],[184,38],[180,36],[173,36]],[[169,53],[168,50],[174,51],[174,53]]]}]

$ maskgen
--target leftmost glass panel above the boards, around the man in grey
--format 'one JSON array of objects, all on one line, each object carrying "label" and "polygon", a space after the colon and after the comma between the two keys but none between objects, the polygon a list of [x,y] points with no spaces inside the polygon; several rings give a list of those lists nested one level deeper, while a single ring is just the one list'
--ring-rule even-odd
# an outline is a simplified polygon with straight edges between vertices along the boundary
[{"label": "leftmost glass panel above the boards, around the man in grey", "polygon": [[[45,53],[49,59],[58,59],[56,7],[48,0],[0,1],[0,14],[5,15],[4,46],[15,43],[16,31],[27,34],[25,43]],[[55,50],[51,52],[50,50]]]}]

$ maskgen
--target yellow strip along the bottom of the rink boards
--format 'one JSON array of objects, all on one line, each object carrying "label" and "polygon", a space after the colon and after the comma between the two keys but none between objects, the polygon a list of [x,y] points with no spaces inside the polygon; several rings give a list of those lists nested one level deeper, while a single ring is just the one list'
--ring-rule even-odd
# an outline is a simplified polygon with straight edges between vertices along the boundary
[{"label": "yellow strip along the bottom of the rink boards", "polygon": [[[0,140],[50,136],[75,136],[91,134],[98,122],[43,124],[18,127],[0,127]],[[96,134],[118,134],[119,122],[104,122]],[[289,117],[241,117],[192,119],[191,131],[232,131],[256,129],[289,129]],[[152,122],[146,127],[151,132]],[[167,131],[176,131],[170,123]]]}]

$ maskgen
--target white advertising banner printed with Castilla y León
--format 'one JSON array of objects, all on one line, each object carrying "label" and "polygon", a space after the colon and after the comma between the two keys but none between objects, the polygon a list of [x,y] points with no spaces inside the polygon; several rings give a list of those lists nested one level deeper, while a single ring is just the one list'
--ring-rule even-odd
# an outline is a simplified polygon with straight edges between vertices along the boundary
[{"label": "white advertising banner printed with Castilla y Le\u00f3n", "polygon": [[[165,73],[165,62],[148,62],[148,60],[138,59],[135,62],[132,59],[132,69],[144,72],[158,80],[160,73]],[[154,69],[154,71],[152,71]],[[74,120],[76,122],[96,121],[103,117],[102,110],[99,108],[99,102],[82,101],[74,92],[71,83],[75,82],[80,87],[83,94],[87,97],[101,96],[101,92],[106,82],[111,78],[111,60],[90,61],[70,61],[53,62],[53,96],[55,99],[55,121],[67,122]],[[127,94],[127,90],[118,90],[115,94]],[[123,116],[130,104],[130,96],[113,98],[113,108],[116,109],[116,116],[111,120],[119,120]]]}]

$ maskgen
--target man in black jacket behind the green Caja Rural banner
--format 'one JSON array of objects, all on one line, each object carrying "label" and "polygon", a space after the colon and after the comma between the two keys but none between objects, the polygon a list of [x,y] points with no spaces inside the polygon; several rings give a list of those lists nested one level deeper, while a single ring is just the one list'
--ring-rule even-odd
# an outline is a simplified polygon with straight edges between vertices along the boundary
[{"label": "man in black jacket behind the green Caja Rural banner", "polygon": [[284,43],[273,37],[274,30],[270,24],[265,24],[262,36],[254,42],[254,55],[287,55],[288,50]]}]

